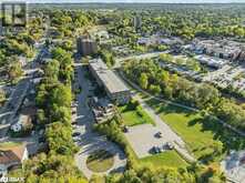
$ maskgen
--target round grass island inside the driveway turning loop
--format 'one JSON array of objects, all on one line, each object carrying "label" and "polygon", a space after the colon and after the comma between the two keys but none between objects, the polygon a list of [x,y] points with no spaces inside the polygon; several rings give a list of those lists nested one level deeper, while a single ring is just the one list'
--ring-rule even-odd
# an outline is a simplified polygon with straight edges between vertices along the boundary
[{"label": "round grass island inside the driveway turning loop", "polygon": [[86,166],[93,172],[105,172],[113,166],[113,154],[104,150],[94,151],[86,160]]}]

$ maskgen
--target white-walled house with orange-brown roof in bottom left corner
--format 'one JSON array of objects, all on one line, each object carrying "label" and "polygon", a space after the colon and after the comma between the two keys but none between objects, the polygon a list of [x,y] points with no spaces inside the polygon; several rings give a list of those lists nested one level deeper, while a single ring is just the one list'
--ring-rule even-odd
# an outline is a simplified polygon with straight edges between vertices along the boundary
[{"label": "white-walled house with orange-brown roof in bottom left corner", "polygon": [[28,150],[23,144],[0,146],[0,175],[6,175],[11,167],[20,166],[27,159]]}]

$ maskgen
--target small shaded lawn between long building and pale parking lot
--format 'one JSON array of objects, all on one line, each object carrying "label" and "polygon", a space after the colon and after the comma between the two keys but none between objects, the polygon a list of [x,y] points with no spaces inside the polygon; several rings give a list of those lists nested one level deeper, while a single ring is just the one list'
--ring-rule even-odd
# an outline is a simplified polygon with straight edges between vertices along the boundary
[{"label": "small shaded lawn between long building and pale parking lot", "polygon": [[125,125],[132,126],[144,123],[154,124],[154,121],[147,115],[141,105],[134,105],[130,102],[126,105],[120,106],[119,110]]}]

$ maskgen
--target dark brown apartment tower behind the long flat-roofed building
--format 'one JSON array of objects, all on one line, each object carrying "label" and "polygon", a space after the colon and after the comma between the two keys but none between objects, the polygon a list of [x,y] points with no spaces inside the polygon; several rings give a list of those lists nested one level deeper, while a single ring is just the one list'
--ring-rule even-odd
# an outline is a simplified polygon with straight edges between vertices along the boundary
[{"label": "dark brown apartment tower behind the long flat-roofed building", "polygon": [[89,35],[80,37],[76,40],[76,49],[81,55],[94,54],[98,51],[98,45],[95,40],[91,39]]}]

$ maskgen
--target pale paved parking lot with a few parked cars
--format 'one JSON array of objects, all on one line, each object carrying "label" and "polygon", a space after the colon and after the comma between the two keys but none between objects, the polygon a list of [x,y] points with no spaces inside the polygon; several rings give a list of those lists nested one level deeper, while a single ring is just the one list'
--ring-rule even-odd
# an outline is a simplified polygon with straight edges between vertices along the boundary
[{"label": "pale paved parking lot with a few parked cars", "polygon": [[163,148],[167,143],[165,138],[156,135],[157,132],[160,132],[159,129],[152,124],[141,124],[129,128],[125,136],[137,157],[142,159],[152,155],[153,146]]}]

